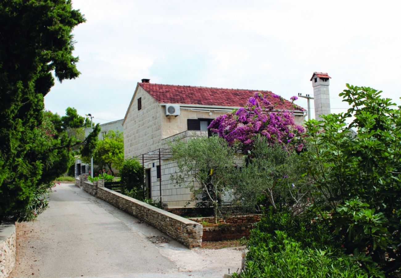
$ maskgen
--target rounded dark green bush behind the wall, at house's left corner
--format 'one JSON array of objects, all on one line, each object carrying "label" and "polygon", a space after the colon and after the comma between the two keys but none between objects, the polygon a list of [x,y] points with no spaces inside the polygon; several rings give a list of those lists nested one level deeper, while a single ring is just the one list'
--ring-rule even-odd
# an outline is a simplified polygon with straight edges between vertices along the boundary
[{"label": "rounded dark green bush behind the wall, at house's left corner", "polygon": [[122,192],[131,192],[131,197],[138,200],[144,198],[144,170],[138,160],[126,159],[120,170],[120,178]]}]

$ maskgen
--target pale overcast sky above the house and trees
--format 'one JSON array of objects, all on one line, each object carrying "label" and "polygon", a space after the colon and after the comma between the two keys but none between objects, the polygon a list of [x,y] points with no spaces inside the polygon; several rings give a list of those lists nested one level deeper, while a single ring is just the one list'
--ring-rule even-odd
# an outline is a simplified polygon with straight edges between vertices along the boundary
[{"label": "pale overcast sky above the house and trees", "polygon": [[[73,0],[75,80],[56,82],[46,109],[68,106],[97,123],[124,118],[137,82],[313,94],[328,72],[332,112],[345,84],[400,104],[399,1]],[[306,108],[306,100],[297,104]],[[312,110],[312,118],[314,110]]]}]

